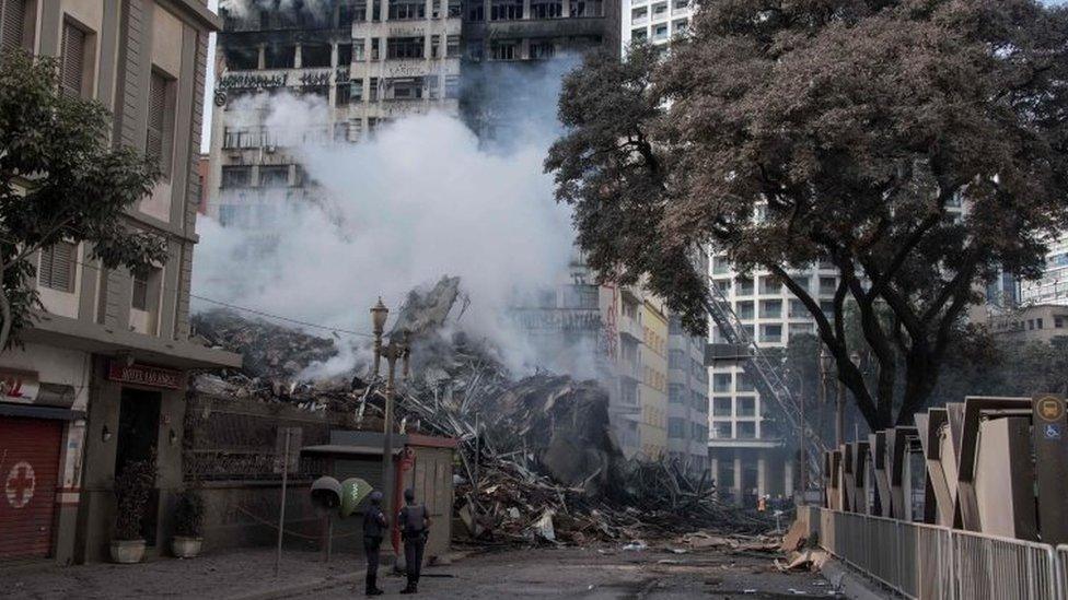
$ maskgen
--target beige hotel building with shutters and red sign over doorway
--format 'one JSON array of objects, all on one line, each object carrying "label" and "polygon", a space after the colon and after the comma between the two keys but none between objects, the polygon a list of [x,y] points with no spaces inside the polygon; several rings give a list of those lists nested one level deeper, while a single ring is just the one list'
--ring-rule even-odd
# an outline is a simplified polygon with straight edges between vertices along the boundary
[{"label": "beige hotel building with shutters and red sign over doorway", "polygon": [[187,374],[241,364],[189,341],[205,58],[219,25],[204,0],[0,2],[3,48],[56,57],[61,92],[101,102],[112,142],[159,161],[163,178],[123,224],[169,250],[139,272],[104,269],[86,244],[35,258],[42,309],[24,345],[0,353],[0,561],[102,560],[115,475],[153,452],[149,555],[170,541]]}]

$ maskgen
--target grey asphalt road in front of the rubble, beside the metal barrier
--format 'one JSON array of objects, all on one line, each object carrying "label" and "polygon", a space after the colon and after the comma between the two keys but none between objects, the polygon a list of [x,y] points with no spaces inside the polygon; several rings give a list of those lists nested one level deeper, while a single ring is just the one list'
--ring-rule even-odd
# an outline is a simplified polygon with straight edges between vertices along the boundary
[{"label": "grey asphalt road in front of the rubble, beside the metal barrier", "polygon": [[[399,576],[379,577],[382,598],[396,597]],[[468,555],[427,567],[420,598],[828,598],[817,574],[780,573],[773,556],[709,550],[538,549]],[[300,598],[362,596],[363,584],[317,589]]]}]

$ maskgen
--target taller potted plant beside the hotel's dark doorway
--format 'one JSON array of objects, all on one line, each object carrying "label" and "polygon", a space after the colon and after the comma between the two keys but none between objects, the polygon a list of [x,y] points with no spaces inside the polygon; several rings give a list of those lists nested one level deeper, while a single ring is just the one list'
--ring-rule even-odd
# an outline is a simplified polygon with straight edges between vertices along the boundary
[{"label": "taller potted plant beside the hotel's dark doorway", "polygon": [[116,563],[139,563],[144,557],[141,520],[155,485],[155,461],[127,462],[115,477],[115,536],[112,538],[112,560]]}]

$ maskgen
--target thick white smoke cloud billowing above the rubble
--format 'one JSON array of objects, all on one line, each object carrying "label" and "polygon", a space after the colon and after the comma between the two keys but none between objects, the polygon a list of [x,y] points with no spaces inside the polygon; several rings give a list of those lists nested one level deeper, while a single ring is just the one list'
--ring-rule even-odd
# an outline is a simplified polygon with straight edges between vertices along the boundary
[{"label": "thick white smoke cloud billowing above the rubble", "polygon": [[[539,365],[594,376],[595,349],[589,358],[553,364],[502,317],[516,297],[533,298],[567,278],[573,256],[569,211],[554,201],[552,177],[542,173],[559,131],[555,98],[566,67],[560,61],[515,75],[537,90],[524,106],[539,108],[514,117],[520,138],[507,150],[480,145],[460,119],[444,114],[397,120],[370,142],[334,144],[325,140],[329,108],[322,101],[285,94],[240,101],[269,97],[267,127],[279,146],[297,149],[326,198],[287,201],[289,190],[278,189],[266,228],[222,227],[201,217],[194,294],[369,332],[368,309],[379,295],[395,316],[409,290],[456,275],[471,299],[458,327],[494,342],[513,372]],[[367,360],[367,340],[338,341],[341,355],[305,376],[336,375]]]}]

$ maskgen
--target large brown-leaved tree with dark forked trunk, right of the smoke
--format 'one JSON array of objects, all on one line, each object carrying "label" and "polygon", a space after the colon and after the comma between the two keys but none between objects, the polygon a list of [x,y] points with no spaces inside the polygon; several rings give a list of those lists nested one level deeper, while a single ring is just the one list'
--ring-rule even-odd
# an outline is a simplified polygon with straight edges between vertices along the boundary
[{"label": "large brown-leaved tree with dark forked trunk, right of the smoke", "polygon": [[[1064,224],[1066,40],[1068,11],[1035,0],[705,2],[666,55],[567,78],[545,166],[604,277],[650,273],[701,332],[686,249],[715,244],[804,303],[871,427],[908,422],[977,285],[1034,277]],[[794,279],[819,260],[840,280],[829,315]]]}]

